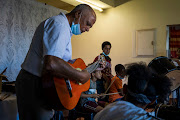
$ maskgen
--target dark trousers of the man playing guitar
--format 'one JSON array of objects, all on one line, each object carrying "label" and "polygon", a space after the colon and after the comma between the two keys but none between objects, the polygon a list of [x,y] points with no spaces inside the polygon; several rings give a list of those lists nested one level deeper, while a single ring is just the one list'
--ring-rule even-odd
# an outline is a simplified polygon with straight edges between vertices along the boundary
[{"label": "dark trousers of the man playing guitar", "polygon": [[16,79],[20,120],[50,120],[54,111],[47,109],[42,96],[41,78],[21,70]]}]

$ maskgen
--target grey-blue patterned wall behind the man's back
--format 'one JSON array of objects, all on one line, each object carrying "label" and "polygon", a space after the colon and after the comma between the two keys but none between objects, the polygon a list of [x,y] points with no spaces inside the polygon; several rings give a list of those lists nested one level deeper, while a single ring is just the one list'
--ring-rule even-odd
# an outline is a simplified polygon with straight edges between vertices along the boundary
[{"label": "grey-blue patterned wall behind the man's back", "polygon": [[35,0],[0,0],[0,73],[15,81],[38,24],[60,9]]}]

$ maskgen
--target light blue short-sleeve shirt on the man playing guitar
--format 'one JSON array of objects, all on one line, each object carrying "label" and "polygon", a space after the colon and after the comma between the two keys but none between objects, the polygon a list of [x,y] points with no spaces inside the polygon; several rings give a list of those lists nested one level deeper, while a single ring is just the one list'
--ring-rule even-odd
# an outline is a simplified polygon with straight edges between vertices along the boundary
[{"label": "light blue short-sleeve shirt on the man playing guitar", "polygon": [[35,31],[22,69],[41,77],[43,58],[52,55],[68,61],[72,57],[72,31],[64,13],[43,21]]}]

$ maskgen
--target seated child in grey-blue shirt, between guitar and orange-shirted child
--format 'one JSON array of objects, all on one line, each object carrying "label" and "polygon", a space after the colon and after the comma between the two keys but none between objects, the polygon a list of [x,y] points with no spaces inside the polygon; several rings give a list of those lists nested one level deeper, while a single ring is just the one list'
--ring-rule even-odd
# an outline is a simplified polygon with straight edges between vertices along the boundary
[{"label": "seated child in grey-blue shirt, between guitar and orange-shirted child", "polygon": [[81,94],[79,104],[83,112],[97,113],[105,106],[104,101],[96,102],[95,99],[99,97],[99,94],[96,94],[96,80],[101,79],[101,70],[102,69],[97,68],[93,73],[91,73],[90,88],[88,91]]}]

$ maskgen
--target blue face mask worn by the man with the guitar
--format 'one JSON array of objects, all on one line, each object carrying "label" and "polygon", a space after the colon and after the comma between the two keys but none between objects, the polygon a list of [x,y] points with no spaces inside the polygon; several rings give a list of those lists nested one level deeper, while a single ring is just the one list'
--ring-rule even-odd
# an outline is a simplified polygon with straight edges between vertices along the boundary
[{"label": "blue face mask worn by the man with the guitar", "polygon": [[[81,15],[79,17],[79,21],[80,21]],[[81,34],[81,29],[80,29],[80,24],[78,22],[78,24],[74,24],[74,22],[72,22],[71,25],[71,31],[74,35],[80,35]]]}]

